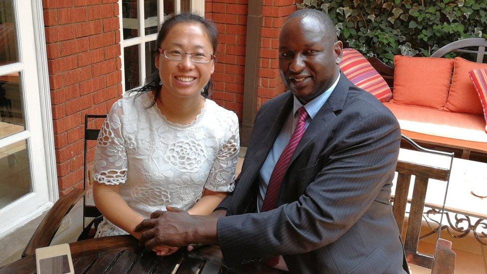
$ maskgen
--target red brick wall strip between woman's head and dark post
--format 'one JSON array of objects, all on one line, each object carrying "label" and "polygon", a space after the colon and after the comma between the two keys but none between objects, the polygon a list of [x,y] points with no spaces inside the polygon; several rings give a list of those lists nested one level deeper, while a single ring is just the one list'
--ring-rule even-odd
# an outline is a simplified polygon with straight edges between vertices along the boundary
[{"label": "red brick wall strip between woman's head and dark post", "polygon": [[220,32],[217,63],[213,74],[212,99],[233,110],[242,121],[243,72],[248,0],[206,0],[205,17],[212,19]]}]

